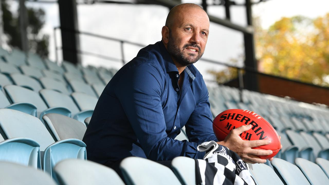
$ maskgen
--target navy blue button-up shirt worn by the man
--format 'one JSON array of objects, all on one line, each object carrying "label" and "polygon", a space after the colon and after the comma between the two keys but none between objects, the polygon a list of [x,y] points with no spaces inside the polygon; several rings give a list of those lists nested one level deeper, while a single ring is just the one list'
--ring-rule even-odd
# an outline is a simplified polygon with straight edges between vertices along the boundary
[{"label": "navy blue button-up shirt worn by the man", "polygon": [[[208,90],[193,66],[179,73],[162,41],[141,49],[101,94],[83,138],[91,161],[112,164],[139,156],[153,161],[177,156],[202,159],[198,144],[218,141]],[[185,125],[189,141],[175,140]]]}]

